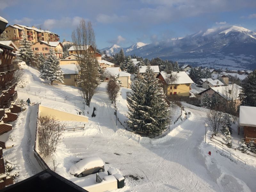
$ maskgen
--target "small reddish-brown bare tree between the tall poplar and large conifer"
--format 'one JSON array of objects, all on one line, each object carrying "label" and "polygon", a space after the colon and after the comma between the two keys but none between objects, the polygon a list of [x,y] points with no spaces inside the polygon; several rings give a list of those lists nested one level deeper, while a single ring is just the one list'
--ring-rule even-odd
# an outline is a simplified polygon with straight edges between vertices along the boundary
[{"label": "small reddish-brown bare tree between the tall poplar and large conifer", "polygon": [[113,103],[120,89],[118,77],[110,76],[106,88],[109,99],[111,100],[111,103]]}]

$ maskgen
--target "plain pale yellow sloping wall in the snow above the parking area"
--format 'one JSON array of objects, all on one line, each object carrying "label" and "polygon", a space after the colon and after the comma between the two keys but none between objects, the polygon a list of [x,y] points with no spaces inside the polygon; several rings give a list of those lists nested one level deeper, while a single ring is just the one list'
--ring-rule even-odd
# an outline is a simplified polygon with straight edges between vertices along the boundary
[{"label": "plain pale yellow sloping wall in the snow above the parking area", "polygon": [[44,116],[55,116],[60,121],[78,121],[88,123],[88,117],[39,105],[39,114]]}]

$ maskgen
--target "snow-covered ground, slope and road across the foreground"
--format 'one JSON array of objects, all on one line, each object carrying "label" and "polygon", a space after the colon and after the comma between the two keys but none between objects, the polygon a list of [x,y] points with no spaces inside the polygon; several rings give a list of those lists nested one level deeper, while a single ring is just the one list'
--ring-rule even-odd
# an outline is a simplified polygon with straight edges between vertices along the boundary
[{"label": "snow-covered ground, slope and road across the foreground", "polygon": [[[99,156],[105,162],[106,171],[108,168],[115,168],[125,176],[125,187],[116,191],[255,190],[256,158],[247,157],[247,164],[243,165],[230,161],[215,152],[211,145],[204,143],[207,109],[184,104],[185,111],[190,111],[192,115],[172,124],[171,131],[165,132],[164,136],[149,139],[125,130],[118,122],[116,126],[114,104],[111,104],[105,92],[106,84],[100,85],[99,91],[92,98],[91,107],[88,108],[84,106],[77,88],[51,86],[38,78],[39,72],[30,67],[26,67],[26,74],[29,84],[19,88],[19,98],[26,100],[29,97],[31,102],[41,102],[44,106],[71,113],[85,111],[85,115],[89,117],[84,130],[64,133],[63,141],[56,151],[56,172],[77,185],[88,186],[95,182],[96,176],[93,174],[76,178],[70,175],[69,168],[85,157]],[[116,100],[117,115],[121,122],[126,120],[127,91],[130,90],[122,88]],[[97,109],[96,117],[91,117],[93,106]],[[33,157],[29,156],[34,141],[34,107],[36,106],[28,107],[20,113],[13,130],[1,136],[1,139],[7,139],[12,135],[14,139],[14,147],[4,150],[4,159],[13,161],[19,167],[21,175],[15,179],[16,182],[41,169]],[[179,115],[180,108],[173,110],[173,120]],[[68,126],[83,125],[64,123]],[[211,132],[208,131],[207,140],[210,135]],[[212,151],[211,156],[208,151]],[[50,158],[47,161],[53,168]]]}]

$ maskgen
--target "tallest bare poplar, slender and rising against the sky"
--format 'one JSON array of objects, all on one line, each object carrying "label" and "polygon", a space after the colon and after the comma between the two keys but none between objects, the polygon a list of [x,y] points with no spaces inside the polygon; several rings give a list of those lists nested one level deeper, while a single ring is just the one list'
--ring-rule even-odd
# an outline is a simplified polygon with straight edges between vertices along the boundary
[{"label": "tallest bare poplar, slender and rising against the sky", "polygon": [[95,35],[91,22],[85,23],[84,19],[72,32],[75,52],[79,57],[77,69],[79,71],[78,85],[81,97],[90,107],[92,96],[97,92],[100,84],[100,65],[95,57]]}]

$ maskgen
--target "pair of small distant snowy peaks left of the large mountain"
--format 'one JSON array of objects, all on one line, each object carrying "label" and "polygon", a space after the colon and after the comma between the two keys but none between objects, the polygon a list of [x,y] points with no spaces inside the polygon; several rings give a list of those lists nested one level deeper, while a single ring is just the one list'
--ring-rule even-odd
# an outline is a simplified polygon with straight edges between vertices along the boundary
[{"label": "pair of small distant snowy peaks left of the large mountain", "polygon": [[135,43],[135,44],[132,44],[130,47],[124,48],[124,47],[120,47],[120,46],[117,45],[117,44],[114,44],[114,45],[112,45],[112,46],[110,46],[110,47],[106,47],[106,48],[104,48],[104,49],[101,49],[100,51],[101,51],[101,52],[106,51],[107,54],[110,54],[110,55],[111,55],[111,54],[115,54],[115,53],[117,53],[117,52],[120,52],[120,50],[123,49],[125,54],[129,54],[129,52],[131,52],[131,51],[133,51],[133,50],[135,50],[135,49],[138,49],[138,48],[140,48],[140,47],[143,47],[143,46],[145,46],[145,45],[148,45],[148,44],[142,43],[142,42],[137,42],[137,43]]}]

